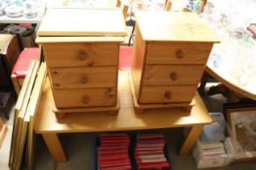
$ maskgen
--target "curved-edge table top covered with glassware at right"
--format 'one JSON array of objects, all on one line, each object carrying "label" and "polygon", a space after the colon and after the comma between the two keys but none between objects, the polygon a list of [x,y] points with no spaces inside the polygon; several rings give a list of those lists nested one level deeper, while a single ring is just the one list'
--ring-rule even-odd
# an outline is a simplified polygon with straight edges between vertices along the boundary
[{"label": "curved-edge table top covered with glassware at right", "polygon": [[256,22],[256,1],[207,3],[201,17],[222,38],[209,56],[207,73],[238,94],[256,100],[256,40],[246,28]]}]

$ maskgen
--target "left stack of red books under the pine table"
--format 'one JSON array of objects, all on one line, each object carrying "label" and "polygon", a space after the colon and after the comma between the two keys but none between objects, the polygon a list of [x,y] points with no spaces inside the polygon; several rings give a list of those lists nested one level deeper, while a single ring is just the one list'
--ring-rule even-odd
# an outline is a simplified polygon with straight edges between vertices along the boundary
[{"label": "left stack of red books under the pine table", "polygon": [[101,134],[98,147],[99,170],[131,170],[128,134]]}]

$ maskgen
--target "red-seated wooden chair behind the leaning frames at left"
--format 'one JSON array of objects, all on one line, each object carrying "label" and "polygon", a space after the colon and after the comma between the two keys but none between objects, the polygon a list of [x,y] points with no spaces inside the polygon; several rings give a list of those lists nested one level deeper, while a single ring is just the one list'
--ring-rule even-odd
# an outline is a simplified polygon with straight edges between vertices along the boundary
[{"label": "red-seated wooden chair behind the leaning frames at left", "polygon": [[39,48],[27,48],[21,51],[21,54],[19,55],[19,58],[14,66],[11,78],[17,94],[20,93],[23,79],[26,75],[29,63],[32,59],[40,59]]}]

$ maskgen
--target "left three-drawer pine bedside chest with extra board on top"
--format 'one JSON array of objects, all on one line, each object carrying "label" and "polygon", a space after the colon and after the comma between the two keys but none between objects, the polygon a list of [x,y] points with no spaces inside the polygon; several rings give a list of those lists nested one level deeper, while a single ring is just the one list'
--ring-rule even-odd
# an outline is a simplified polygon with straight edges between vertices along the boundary
[{"label": "left three-drawer pine bedside chest with extra board on top", "polygon": [[57,117],[118,113],[118,54],[125,35],[117,9],[52,9],[46,14],[36,42],[44,50]]}]

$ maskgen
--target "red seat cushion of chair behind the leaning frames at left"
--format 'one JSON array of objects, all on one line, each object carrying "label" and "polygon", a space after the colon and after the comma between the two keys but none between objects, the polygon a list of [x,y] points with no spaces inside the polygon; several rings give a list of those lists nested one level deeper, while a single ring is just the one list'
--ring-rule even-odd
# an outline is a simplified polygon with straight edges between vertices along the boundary
[{"label": "red seat cushion of chair behind the leaning frames at left", "polygon": [[13,74],[16,74],[17,78],[24,78],[32,59],[39,60],[39,48],[27,48],[21,51],[13,69]]}]

